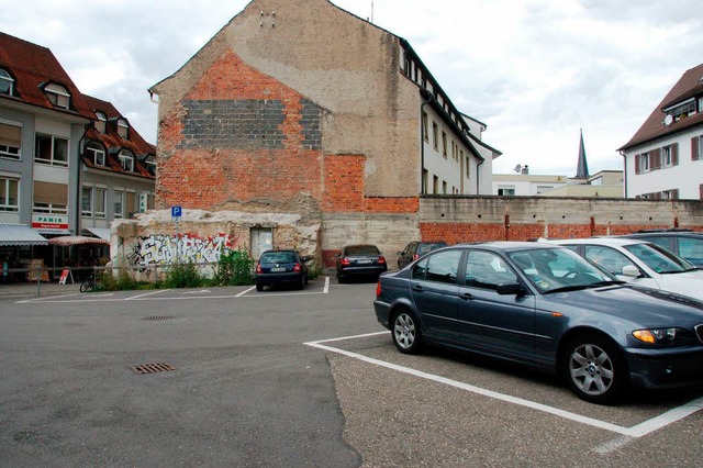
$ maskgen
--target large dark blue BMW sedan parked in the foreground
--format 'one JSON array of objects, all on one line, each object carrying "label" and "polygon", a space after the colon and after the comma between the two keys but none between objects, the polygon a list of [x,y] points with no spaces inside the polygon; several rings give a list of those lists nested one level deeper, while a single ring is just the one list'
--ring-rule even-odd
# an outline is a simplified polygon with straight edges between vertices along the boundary
[{"label": "large dark blue BMW sedan parked in the foreground", "polygon": [[703,382],[703,302],[617,280],[546,243],[434,250],[380,276],[373,308],[401,353],[425,343],[559,372],[609,402]]}]

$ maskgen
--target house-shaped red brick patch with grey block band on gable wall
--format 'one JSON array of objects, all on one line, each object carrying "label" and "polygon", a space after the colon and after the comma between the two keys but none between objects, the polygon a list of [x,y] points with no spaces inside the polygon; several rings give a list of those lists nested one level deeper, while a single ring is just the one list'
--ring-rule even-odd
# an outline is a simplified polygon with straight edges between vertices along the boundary
[{"label": "house-shaped red brick patch with grey block band on gable wall", "polygon": [[322,199],[322,111],[225,52],[159,127],[157,204]]}]

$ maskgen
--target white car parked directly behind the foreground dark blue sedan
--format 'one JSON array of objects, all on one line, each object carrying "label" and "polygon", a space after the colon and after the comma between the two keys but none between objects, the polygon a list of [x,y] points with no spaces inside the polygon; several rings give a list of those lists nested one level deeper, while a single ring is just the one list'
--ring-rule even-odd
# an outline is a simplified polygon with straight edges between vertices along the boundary
[{"label": "white car parked directly behind the foreground dark blue sedan", "polygon": [[703,300],[703,270],[655,244],[621,237],[546,242],[569,247],[623,281]]}]

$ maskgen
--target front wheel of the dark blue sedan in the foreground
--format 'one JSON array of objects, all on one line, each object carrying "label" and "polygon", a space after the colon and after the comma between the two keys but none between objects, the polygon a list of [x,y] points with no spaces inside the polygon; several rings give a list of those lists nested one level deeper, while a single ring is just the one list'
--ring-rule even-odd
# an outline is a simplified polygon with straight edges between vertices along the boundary
[{"label": "front wheel of the dark blue sedan in the foreground", "polygon": [[594,334],[571,339],[565,347],[561,367],[571,390],[591,403],[616,400],[629,381],[617,346]]}]

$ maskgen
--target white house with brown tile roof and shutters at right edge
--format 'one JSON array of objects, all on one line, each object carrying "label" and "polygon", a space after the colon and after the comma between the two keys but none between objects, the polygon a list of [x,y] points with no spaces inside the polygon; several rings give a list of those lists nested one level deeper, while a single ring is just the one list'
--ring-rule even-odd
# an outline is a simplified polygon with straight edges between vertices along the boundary
[{"label": "white house with brown tile roof and shutters at right edge", "polygon": [[703,64],[683,74],[620,152],[626,198],[703,200]]}]

